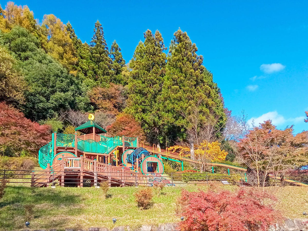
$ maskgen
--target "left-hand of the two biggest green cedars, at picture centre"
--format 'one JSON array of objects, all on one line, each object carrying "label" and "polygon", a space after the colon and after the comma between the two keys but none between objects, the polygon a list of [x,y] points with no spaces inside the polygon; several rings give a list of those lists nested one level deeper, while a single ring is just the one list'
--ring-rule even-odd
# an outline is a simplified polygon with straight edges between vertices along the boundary
[{"label": "left-hand of the two biggest green cedars, at picture centre", "polygon": [[167,49],[158,30],[144,33],[144,43],[139,42],[129,63],[132,69],[128,78],[128,108],[141,123],[151,143],[162,139],[161,93],[165,75]]}]

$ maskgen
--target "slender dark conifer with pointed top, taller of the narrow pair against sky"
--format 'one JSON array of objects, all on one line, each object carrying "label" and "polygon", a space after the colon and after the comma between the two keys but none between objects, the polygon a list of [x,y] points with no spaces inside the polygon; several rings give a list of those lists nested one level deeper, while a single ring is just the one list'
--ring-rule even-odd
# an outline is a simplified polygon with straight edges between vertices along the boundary
[{"label": "slender dark conifer with pointed top, taller of the narrow pair against sky", "polygon": [[111,77],[114,75],[112,70],[112,60],[109,57],[109,50],[104,38],[102,24],[95,22],[94,35],[90,43],[91,60],[95,64],[94,74],[99,80],[100,85],[109,84]]}]

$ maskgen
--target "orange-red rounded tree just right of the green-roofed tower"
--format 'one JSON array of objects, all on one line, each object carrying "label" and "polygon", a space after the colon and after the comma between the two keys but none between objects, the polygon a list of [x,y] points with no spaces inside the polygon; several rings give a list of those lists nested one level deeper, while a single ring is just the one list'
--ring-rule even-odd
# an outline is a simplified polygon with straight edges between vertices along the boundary
[{"label": "orange-red rounded tree just right of the green-roofed tower", "polygon": [[132,115],[121,114],[115,122],[106,128],[108,136],[137,137],[139,141],[145,141],[144,131]]}]

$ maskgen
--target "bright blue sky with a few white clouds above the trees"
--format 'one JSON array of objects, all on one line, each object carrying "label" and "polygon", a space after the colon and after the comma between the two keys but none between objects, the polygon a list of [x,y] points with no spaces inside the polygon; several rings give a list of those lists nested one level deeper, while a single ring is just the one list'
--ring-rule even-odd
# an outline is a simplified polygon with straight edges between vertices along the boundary
[{"label": "bright blue sky with a few white clouds above the trees", "polygon": [[[2,7],[6,1],[0,1]],[[278,128],[308,129],[308,1],[15,1],[34,18],[55,14],[91,41],[97,19],[111,46],[128,62],[147,29],[166,46],[180,27],[197,44],[221,88],[225,106],[250,122],[272,119]]]}]

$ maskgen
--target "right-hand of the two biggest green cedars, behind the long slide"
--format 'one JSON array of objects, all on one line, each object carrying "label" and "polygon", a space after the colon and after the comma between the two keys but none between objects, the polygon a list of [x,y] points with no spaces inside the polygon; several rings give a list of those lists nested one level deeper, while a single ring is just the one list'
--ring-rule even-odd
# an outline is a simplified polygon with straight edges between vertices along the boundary
[{"label": "right-hand of the two biggest green cedars, behind the long slide", "polygon": [[186,139],[186,129],[193,126],[187,118],[196,110],[195,107],[200,127],[209,116],[218,117],[217,132],[225,124],[220,90],[197,51],[196,44],[191,42],[186,32],[179,29],[174,33],[167,57],[163,96],[169,131],[177,133],[180,139]]}]

